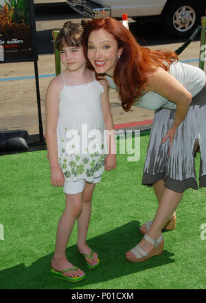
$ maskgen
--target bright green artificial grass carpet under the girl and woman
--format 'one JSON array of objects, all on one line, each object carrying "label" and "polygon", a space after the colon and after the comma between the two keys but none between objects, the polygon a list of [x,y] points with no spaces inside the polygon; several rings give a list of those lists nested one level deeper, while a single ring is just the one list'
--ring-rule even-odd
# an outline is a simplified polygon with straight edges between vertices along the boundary
[{"label": "bright green artificial grass carpet under the girl and woman", "polygon": [[[50,185],[47,151],[0,157],[0,289],[205,289],[206,188],[185,191],[176,229],[163,232],[161,256],[141,263],[124,257],[143,237],[141,224],[157,210],[152,188],[141,186],[148,138],[141,137],[139,161],[118,154],[116,170],[104,172],[95,188],[87,243],[99,254],[97,269],[87,269],[78,254],[74,226],[67,258],[87,275],[74,284],[49,276],[65,196]],[[197,168],[199,161],[198,154]]]}]

